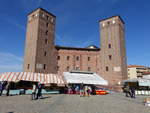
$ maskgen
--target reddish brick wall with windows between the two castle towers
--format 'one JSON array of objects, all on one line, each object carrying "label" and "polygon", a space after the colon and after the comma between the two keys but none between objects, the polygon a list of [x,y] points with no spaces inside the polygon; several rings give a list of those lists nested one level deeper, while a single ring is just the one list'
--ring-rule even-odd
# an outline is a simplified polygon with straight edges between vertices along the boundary
[{"label": "reddish brick wall with windows between the two castle towers", "polygon": [[[90,71],[98,72],[99,51],[60,49],[58,50],[58,56],[60,57],[58,71],[61,73],[68,71],[67,67],[69,67],[69,71],[78,67],[80,71],[88,71],[88,68],[90,68]],[[67,60],[68,56],[69,60]],[[77,57],[79,57],[79,60],[77,60]]]}]

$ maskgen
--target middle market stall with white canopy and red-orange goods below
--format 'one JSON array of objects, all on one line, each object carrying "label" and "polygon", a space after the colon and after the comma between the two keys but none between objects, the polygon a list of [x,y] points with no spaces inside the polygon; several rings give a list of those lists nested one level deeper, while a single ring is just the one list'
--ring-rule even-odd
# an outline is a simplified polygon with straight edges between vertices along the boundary
[{"label": "middle market stall with white canopy and red-orange goods below", "polygon": [[69,94],[78,94],[80,89],[83,89],[85,92],[86,87],[90,87],[93,94],[106,94],[104,90],[97,90],[96,86],[106,86],[108,82],[96,73],[71,71],[64,72],[63,76],[69,86]]}]

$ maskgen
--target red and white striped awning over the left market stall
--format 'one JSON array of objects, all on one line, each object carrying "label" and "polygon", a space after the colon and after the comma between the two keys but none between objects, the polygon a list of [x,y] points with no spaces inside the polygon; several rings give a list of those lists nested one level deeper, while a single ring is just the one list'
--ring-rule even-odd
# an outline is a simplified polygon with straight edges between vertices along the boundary
[{"label": "red and white striped awning over the left market stall", "polygon": [[32,81],[40,82],[42,84],[64,84],[63,77],[58,74],[43,74],[32,72],[6,72],[0,74],[0,81]]}]

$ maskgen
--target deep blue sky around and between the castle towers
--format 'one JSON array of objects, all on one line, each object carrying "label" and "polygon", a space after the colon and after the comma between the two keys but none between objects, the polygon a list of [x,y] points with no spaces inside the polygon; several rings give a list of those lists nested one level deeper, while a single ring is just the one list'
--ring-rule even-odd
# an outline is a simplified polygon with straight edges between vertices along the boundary
[{"label": "deep blue sky around and between the castle towers", "polygon": [[57,17],[56,44],[99,46],[98,21],[120,15],[128,64],[150,66],[149,0],[1,0],[0,72],[22,71],[27,14],[42,7]]}]

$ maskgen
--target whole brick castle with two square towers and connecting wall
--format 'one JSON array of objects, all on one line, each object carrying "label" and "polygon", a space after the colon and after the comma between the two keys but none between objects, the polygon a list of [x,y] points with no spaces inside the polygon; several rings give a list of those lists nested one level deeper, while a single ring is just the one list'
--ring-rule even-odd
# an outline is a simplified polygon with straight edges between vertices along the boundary
[{"label": "whole brick castle with two square towers and connecting wall", "polygon": [[100,45],[86,48],[55,45],[56,16],[38,8],[28,14],[25,72],[59,73],[79,70],[96,72],[109,85],[127,79],[124,21],[113,16],[99,21]]}]

